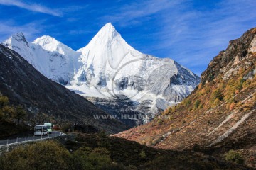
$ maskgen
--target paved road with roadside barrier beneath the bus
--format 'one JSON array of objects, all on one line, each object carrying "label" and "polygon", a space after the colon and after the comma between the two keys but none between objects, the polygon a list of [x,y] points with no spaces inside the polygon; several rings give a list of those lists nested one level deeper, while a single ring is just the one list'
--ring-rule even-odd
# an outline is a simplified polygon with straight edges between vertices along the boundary
[{"label": "paved road with roadside barrier beneath the bus", "polygon": [[51,134],[45,135],[45,136],[17,137],[15,139],[0,140],[0,146],[9,145],[9,144],[13,144],[13,143],[16,143],[16,142],[26,142],[26,141],[32,141],[32,140],[53,138],[53,137],[57,137],[57,136],[60,136],[60,135],[63,135],[63,133],[58,132],[58,131],[53,131]]}]

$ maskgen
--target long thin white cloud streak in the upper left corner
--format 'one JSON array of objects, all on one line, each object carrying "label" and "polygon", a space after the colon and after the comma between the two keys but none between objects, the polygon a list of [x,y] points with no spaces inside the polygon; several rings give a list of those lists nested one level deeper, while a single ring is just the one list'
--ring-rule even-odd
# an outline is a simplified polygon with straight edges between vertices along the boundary
[{"label": "long thin white cloud streak in the upper left corner", "polygon": [[22,1],[18,1],[18,0],[0,0],[0,4],[1,5],[5,5],[5,6],[17,6],[18,8],[24,8],[26,10],[29,11],[35,11],[38,13],[46,13],[52,16],[62,16],[63,13],[61,13],[60,11],[56,10],[56,9],[51,9],[51,8],[47,8],[45,6],[41,6],[38,4],[26,4]]}]

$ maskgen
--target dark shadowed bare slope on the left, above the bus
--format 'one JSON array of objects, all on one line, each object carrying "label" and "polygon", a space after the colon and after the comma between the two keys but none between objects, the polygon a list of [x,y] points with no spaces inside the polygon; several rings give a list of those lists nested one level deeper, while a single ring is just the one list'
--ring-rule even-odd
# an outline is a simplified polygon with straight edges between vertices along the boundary
[{"label": "dark shadowed bare slope on the left, above the bus", "polygon": [[25,106],[31,114],[46,114],[63,123],[92,125],[118,132],[128,127],[117,120],[95,119],[107,115],[82,96],[44,77],[17,52],[0,45],[0,91],[12,104]]}]

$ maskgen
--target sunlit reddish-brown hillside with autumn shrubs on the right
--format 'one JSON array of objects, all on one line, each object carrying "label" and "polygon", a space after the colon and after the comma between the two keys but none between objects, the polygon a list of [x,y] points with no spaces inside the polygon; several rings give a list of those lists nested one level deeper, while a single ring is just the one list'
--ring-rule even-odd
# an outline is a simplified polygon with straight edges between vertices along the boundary
[{"label": "sunlit reddish-brown hillside with autumn shrubs on the right", "polygon": [[[146,125],[117,134],[164,149],[197,149],[225,157],[239,149],[256,167],[256,28],[233,40],[210,62],[201,84]],[[250,153],[249,153],[250,152]]]}]

